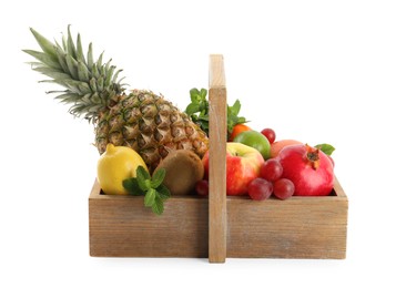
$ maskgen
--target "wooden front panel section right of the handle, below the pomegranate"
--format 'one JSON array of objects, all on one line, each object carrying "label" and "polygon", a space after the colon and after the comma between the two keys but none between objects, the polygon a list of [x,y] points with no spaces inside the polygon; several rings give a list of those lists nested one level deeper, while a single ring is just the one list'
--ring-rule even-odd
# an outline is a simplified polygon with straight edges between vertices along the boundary
[{"label": "wooden front panel section right of the handle, below the pomegranate", "polygon": [[345,258],[346,197],[229,198],[227,209],[227,257]]}]

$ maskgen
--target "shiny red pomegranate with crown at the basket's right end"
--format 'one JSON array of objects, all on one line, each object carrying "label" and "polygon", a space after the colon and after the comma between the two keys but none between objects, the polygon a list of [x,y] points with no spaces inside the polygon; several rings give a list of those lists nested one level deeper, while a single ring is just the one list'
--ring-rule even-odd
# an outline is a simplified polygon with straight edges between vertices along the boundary
[{"label": "shiny red pomegranate with crown at the basket's right end", "polygon": [[282,178],[295,185],[294,196],[327,196],[334,187],[334,167],[321,150],[307,144],[284,147],[278,156]]}]

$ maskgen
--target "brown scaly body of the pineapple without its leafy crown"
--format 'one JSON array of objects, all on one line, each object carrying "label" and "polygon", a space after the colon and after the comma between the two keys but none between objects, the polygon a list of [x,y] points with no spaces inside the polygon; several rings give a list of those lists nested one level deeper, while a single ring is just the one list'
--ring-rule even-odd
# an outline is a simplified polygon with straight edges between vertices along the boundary
[{"label": "brown scaly body of the pineapple without its leafy crown", "polygon": [[171,151],[190,150],[203,157],[209,138],[199,125],[162,95],[133,90],[113,99],[95,125],[100,154],[108,143],[136,151],[153,172]]}]

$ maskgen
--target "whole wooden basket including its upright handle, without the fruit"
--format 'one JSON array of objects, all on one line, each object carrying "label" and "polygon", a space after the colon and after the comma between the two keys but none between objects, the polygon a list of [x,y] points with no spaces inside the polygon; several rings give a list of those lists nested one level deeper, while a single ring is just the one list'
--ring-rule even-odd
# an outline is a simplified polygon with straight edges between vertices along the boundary
[{"label": "whole wooden basket including its upright handle, without the fruit", "polygon": [[[336,179],[326,197],[254,202],[225,195],[226,88],[210,56],[210,196],[173,196],[162,216],[143,197],[89,197],[90,255],[99,257],[329,258],[346,255],[348,199]],[[215,115],[215,116],[214,116]]]}]

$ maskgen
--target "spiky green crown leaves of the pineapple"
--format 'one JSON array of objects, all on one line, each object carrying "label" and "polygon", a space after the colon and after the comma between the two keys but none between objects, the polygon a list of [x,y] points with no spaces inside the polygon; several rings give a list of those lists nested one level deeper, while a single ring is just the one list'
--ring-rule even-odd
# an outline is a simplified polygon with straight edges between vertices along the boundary
[{"label": "spiky green crown leaves of the pineapple", "polygon": [[62,103],[70,104],[69,112],[74,116],[84,116],[94,121],[99,112],[108,107],[111,100],[124,91],[124,78],[118,80],[122,70],[111,65],[111,60],[103,63],[102,52],[97,62],[93,59],[92,43],[89,44],[87,55],[83,53],[81,35],[73,41],[70,25],[67,38],[62,37],[62,44],[52,43],[34,29],[30,28],[42,51],[23,50],[38,62],[29,62],[32,70],[38,71],[50,80],[40,82],[55,83],[65,90],[48,91],[59,93],[55,96]]}]

